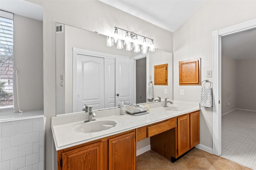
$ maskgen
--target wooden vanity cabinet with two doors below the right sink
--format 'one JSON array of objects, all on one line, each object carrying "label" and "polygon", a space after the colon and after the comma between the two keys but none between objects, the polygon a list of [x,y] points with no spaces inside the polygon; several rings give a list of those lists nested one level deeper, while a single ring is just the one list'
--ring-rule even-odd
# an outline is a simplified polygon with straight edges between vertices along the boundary
[{"label": "wooden vanity cabinet with two doors below the right sink", "polygon": [[199,111],[176,117],[176,128],[150,137],[151,149],[172,162],[199,144],[199,141]]}]

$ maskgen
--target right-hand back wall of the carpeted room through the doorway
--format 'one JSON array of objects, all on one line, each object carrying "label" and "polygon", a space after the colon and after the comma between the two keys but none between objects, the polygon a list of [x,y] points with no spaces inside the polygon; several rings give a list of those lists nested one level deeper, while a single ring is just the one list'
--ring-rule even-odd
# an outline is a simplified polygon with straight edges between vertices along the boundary
[{"label": "right-hand back wall of the carpeted room through the doorway", "polygon": [[238,109],[256,111],[256,58],[237,61],[236,103]]}]

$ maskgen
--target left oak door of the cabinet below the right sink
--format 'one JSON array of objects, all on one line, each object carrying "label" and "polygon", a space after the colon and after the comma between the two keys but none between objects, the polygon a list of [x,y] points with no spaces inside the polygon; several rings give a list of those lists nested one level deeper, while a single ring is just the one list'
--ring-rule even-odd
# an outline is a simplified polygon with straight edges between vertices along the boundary
[{"label": "left oak door of the cabinet below the right sink", "polygon": [[189,114],[177,118],[178,157],[190,149]]}]

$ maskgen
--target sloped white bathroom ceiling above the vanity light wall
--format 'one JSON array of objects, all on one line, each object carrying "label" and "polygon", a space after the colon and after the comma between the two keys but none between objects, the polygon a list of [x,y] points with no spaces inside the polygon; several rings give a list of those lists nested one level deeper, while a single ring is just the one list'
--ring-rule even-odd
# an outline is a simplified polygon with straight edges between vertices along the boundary
[{"label": "sloped white bathroom ceiling above the vanity light wall", "polygon": [[142,20],[176,31],[205,0],[100,0]]}]

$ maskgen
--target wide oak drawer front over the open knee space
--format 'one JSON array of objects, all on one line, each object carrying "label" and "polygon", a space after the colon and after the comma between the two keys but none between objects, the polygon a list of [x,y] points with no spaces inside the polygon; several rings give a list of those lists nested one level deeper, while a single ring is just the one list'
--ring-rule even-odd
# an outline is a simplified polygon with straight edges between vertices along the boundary
[{"label": "wide oak drawer front over the open knee space", "polygon": [[165,132],[171,128],[175,128],[175,118],[148,127],[148,137]]}]

